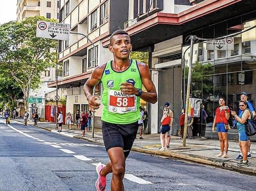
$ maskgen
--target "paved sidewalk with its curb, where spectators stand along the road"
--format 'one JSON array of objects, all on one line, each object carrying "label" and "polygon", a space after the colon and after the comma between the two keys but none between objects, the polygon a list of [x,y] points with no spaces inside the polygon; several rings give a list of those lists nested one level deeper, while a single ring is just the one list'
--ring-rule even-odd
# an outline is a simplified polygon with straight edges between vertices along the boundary
[{"label": "paved sidewalk with its curb, where spectators stand along the road", "polygon": [[[23,122],[23,119],[16,120]],[[32,121],[28,122],[28,125],[33,126],[33,124],[34,122]],[[38,122],[36,127],[51,131],[52,133],[58,133],[54,123]],[[63,125],[62,132],[59,134],[103,144],[101,129],[95,129],[94,138],[92,138],[92,131],[89,131],[85,137],[81,137],[81,131],[76,129],[76,125],[72,125],[71,130],[67,130],[67,125]],[[171,149],[159,151],[159,147],[161,147],[159,134],[143,135],[143,140],[138,138],[139,136],[135,139],[132,151],[194,161],[200,164],[256,175],[256,143],[251,143],[252,158],[248,159],[250,161],[249,167],[238,168],[235,160],[236,156],[240,153],[237,141],[229,141],[228,158],[216,158],[214,156],[220,153],[220,143],[216,139],[187,139],[186,147],[182,147],[180,137],[171,136]]]}]

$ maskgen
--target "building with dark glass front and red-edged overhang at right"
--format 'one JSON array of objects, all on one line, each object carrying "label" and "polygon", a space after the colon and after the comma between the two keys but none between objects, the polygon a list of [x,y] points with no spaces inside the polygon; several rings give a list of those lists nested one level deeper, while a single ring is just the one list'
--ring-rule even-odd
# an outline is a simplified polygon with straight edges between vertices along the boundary
[{"label": "building with dark glass front and red-edged overhang at right", "polygon": [[[178,134],[190,58],[187,37],[212,39],[244,32],[255,26],[255,8],[256,4],[250,0],[129,1],[129,20],[124,28],[131,35],[134,50],[149,51],[152,80],[158,91],[158,102],[149,108],[151,133],[159,132],[164,102],[169,101],[174,111],[172,134]],[[207,126],[212,125],[220,96],[237,110],[240,92],[247,91],[255,106],[255,39],[252,29],[232,37],[232,48],[213,46],[212,49],[207,47],[207,40],[196,41],[191,97],[203,100]],[[107,48],[109,38],[102,40],[102,44]]]}]

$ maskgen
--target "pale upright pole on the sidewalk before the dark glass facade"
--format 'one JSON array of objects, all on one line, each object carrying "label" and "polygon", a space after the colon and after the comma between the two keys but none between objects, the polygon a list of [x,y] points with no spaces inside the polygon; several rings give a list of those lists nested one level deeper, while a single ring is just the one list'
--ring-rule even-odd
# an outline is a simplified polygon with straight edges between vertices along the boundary
[{"label": "pale upright pole on the sidewalk before the dark glass facade", "polygon": [[[188,102],[190,95],[190,85],[191,85],[191,76],[192,76],[192,62],[193,62],[193,45],[195,43],[195,36],[190,36],[190,56],[189,56],[189,66],[188,66],[188,85],[187,85],[187,97],[186,97],[186,111],[185,111],[185,124],[183,132],[183,147],[186,146],[186,136],[188,130]],[[185,75],[185,73],[184,73]]]}]

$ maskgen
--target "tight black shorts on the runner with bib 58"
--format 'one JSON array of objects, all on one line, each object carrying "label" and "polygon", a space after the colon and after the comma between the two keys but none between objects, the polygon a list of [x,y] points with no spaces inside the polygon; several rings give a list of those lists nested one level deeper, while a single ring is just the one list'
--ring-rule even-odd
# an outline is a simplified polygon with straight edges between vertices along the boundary
[{"label": "tight black shorts on the runner with bib 58", "polygon": [[127,158],[138,131],[138,121],[130,124],[113,124],[102,121],[102,136],[106,150],[121,147]]}]

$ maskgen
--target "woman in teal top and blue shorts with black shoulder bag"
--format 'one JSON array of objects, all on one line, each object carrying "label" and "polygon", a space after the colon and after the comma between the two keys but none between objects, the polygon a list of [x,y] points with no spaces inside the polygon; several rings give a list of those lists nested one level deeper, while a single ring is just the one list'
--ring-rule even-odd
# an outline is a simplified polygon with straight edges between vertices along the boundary
[{"label": "woman in teal top and blue shorts with black shoulder bag", "polygon": [[247,103],[244,100],[239,101],[239,108],[242,110],[239,116],[235,111],[232,111],[231,114],[237,121],[236,127],[239,134],[239,147],[241,153],[243,154],[243,161],[238,163],[237,166],[245,167],[249,164],[249,161],[247,160],[247,141],[249,140],[249,137],[245,133],[245,122],[247,119],[251,119],[252,113],[249,109],[247,109]]}]

